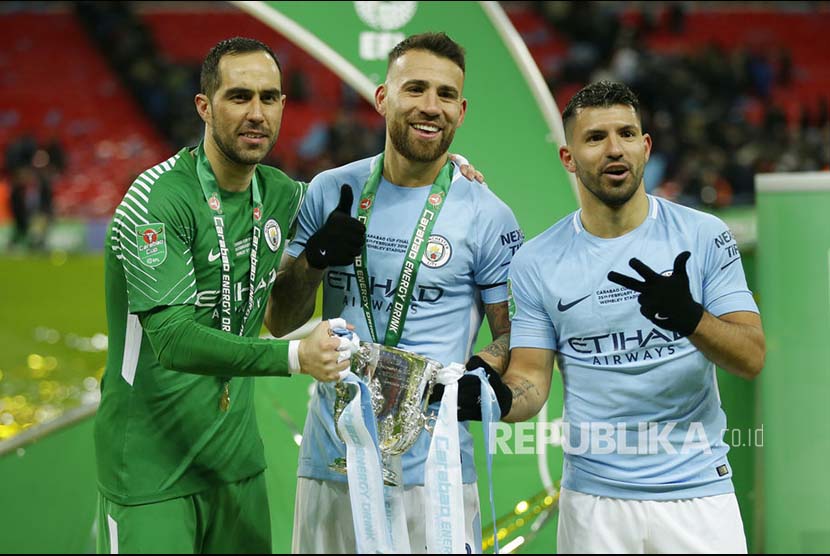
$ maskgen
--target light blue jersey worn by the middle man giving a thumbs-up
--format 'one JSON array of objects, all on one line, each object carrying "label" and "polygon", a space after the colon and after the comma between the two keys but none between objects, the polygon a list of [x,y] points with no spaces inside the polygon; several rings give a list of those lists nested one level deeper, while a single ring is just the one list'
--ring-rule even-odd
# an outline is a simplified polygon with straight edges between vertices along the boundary
[{"label": "light blue jersey worn by the middle man giving a thumbs-up", "polygon": [[[294,257],[326,221],[340,199],[342,184],[354,192],[352,215],[378,157],[328,170],[312,180],[300,211],[297,235],[287,248]],[[381,179],[366,231],[372,310],[378,342],[383,343],[390,305],[407,249],[430,186],[400,187]],[[484,317],[484,304],[507,300],[507,271],[523,235],[510,208],[486,186],[470,182],[454,168],[452,184],[432,229],[418,271],[412,302],[397,347],[447,365],[469,359]],[[331,267],[323,276],[323,318],[343,317],[355,325],[360,339],[371,342],[353,265]],[[300,447],[298,476],[346,481],[329,470],[345,457],[345,444],[335,432],[333,384],[317,382]],[[438,404],[433,405],[433,410]],[[464,483],[476,481],[472,438],[460,427]],[[402,456],[406,485],[424,483],[430,435],[422,432]]]}]

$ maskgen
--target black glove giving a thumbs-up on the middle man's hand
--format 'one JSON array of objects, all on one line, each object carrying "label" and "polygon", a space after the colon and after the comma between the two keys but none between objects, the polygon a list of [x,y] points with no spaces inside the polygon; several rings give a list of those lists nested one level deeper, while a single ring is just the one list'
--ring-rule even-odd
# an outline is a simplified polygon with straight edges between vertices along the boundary
[{"label": "black glove giving a thumbs-up on the middle man's hand", "polygon": [[344,183],[337,208],[306,242],[305,257],[309,266],[319,270],[345,266],[360,254],[366,241],[366,226],[351,215],[353,199],[352,188]]}]

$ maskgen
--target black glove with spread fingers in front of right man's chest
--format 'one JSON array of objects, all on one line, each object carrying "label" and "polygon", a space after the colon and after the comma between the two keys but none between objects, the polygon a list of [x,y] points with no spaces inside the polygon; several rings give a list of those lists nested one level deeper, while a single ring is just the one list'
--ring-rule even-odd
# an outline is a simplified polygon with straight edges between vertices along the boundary
[{"label": "black glove with spread fingers in front of right man's chest", "polygon": [[635,280],[619,272],[609,272],[608,279],[630,290],[640,292],[640,312],[648,320],[666,330],[688,336],[703,318],[703,305],[692,299],[686,261],[691,256],[683,251],[674,260],[671,276],[661,276],[639,259],[628,264],[643,277]]}]

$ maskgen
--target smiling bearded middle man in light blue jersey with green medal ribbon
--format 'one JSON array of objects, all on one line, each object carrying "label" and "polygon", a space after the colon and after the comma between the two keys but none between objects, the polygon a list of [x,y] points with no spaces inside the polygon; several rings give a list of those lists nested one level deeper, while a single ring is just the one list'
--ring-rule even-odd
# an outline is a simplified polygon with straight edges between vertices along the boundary
[{"label": "smiling bearded middle man in light blue jersey with green medal ribbon", "polygon": [[[443,33],[413,36],[392,50],[386,82],[375,94],[376,108],[386,119],[384,152],[323,172],[311,182],[297,236],[287,250],[290,257],[277,278],[281,295],[272,300],[270,319],[285,331],[305,322],[322,280],[324,318],[342,316],[355,323],[365,341],[443,364],[467,361],[470,370],[484,368],[506,412],[510,393],[499,373],[508,355],[507,269],[523,235],[511,210],[486,186],[461,175],[448,158],[466,110],[464,72],[463,49]],[[352,197],[357,206],[351,206]],[[368,222],[361,263],[332,261],[337,253],[321,249],[318,240],[327,235],[328,219],[352,214]],[[425,241],[415,241],[418,237]],[[410,260],[419,242],[423,254]],[[410,262],[414,278],[399,278],[402,269],[412,268]],[[367,269],[365,290],[358,286],[356,267]],[[402,296],[408,308],[400,310],[393,296],[405,284],[410,284]],[[364,313],[363,302],[370,311]],[[494,342],[470,358],[485,315]],[[459,381],[460,421],[481,419],[479,391],[477,378]],[[329,469],[345,455],[335,432],[334,400],[331,385],[315,384],[300,448],[294,552],[356,550],[347,478]],[[459,428],[465,537],[469,549],[479,552],[472,440],[466,423]],[[426,549],[423,485],[429,442],[430,435],[422,432],[402,457],[406,521],[416,553]]]}]

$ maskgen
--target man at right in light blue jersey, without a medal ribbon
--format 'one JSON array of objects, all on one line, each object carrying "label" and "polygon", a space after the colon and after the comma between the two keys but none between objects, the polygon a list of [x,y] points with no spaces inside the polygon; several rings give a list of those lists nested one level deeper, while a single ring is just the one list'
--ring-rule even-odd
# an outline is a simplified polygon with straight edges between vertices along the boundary
[{"label": "man at right in light blue jersey, without a medal ribbon", "polygon": [[558,552],[745,553],[715,365],[752,379],[765,345],[735,240],[645,193],[651,138],[628,87],[585,87],[563,121],[582,208],[513,260],[504,376],[505,420],[522,421],[555,356],[562,371]]}]

